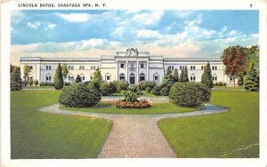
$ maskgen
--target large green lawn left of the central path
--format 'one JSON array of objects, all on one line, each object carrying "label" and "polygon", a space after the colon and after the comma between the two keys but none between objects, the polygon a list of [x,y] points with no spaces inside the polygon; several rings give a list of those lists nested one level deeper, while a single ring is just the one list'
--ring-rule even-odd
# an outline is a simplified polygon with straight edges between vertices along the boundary
[{"label": "large green lawn left of the central path", "polygon": [[37,111],[40,107],[57,103],[59,93],[12,91],[12,159],[97,157],[112,123]]}]

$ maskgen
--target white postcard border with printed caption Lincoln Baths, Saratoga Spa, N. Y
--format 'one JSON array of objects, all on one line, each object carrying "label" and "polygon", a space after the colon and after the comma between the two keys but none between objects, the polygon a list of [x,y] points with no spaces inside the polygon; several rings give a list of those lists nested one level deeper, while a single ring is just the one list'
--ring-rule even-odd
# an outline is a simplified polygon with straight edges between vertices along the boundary
[{"label": "white postcard border with printed caption Lincoln Baths, Saratoga Spa, N. Y", "polygon": [[[108,7],[99,10],[259,10],[260,11],[260,158],[217,159],[217,158],[155,158],[155,159],[42,159],[11,160],[10,148],[10,49],[11,11],[22,10],[18,3],[104,3]],[[252,5],[251,5],[252,4]],[[66,0],[66,1],[10,1],[1,4],[1,166],[267,166],[267,17],[264,0]],[[23,10],[88,10],[87,8],[25,8]],[[96,8],[93,8],[95,10]]]}]

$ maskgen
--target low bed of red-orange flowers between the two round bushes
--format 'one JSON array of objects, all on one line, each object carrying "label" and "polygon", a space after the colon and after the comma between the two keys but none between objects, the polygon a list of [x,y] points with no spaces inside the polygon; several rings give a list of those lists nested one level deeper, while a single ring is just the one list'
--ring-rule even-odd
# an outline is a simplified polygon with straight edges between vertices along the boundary
[{"label": "low bed of red-orange flowers between the two round bushes", "polygon": [[150,103],[149,101],[142,99],[142,100],[137,100],[137,101],[125,101],[122,99],[118,99],[116,101],[113,102],[113,104],[116,107],[120,107],[120,108],[144,108],[144,107],[150,107]]}]

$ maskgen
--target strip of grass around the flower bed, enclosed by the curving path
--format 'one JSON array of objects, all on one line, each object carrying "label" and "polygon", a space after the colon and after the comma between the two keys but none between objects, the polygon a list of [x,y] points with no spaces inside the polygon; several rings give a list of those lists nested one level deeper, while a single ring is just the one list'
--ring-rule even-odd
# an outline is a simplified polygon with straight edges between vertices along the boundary
[{"label": "strip of grass around the flower bed, enclosed by the curving path", "polygon": [[151,107],[146,108],[117,108],[112,103],[101,102],[94,107],[61,107],[74,111],[92,112],[92,113],[116,113],[116,114],[166,114],[166,113],[184,113],[199,110],[200,107],[176,107],[172,103],[152,103]]}]

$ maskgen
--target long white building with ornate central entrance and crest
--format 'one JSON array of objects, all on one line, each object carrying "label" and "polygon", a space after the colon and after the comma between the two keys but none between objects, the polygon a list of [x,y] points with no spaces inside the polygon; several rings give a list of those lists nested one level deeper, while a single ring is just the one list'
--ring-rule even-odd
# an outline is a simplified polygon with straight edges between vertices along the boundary
[{"label": "long white building with ornate central entrance and crest", "polygon": [[95,69],[100,68],[105,81],[125,80],[135,84],[141,81],[162,83],[168,67],[172,70],[177,68],[179,75],[182,67],[187,67],[190,81],[200,82],[207,62],[210,63],[214,83],[232,82],[231,77],[224,75],[223,62],[219,58],[165,58],[150,55],[150,52],[138,52],[134,48],[127,49],[126,52],[116,52],[115,55],[102,55],[101,58],[21,57],[20,69],[28,65],[32,68],[28,79],[53,82],[58,64],[65,63],[69,69],[65,82],[73,82],[77,75],[81,76],[83,81],[90,81]]}]

